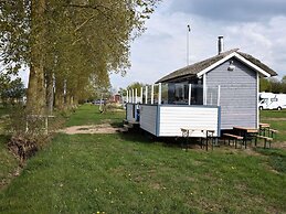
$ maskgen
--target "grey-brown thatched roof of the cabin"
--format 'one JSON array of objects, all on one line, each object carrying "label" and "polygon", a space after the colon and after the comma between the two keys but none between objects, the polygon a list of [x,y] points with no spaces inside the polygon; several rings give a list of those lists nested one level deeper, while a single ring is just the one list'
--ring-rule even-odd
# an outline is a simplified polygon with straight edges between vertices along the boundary
[{"label": "grey-brown thatched roof of the cabin", "polygon": [[213,65],[214,63],[219,62],[220,60],[226,57],[227,55],[230,55],[230,54],[232,54],[234,52],[239,53],[245,60],[250,61],[251,63],[255,64],[256,66],[258,66],[263,71],[267,72],[271,76],[276,76],[277,75],[276,72],[274,72],[272,68],[269,68],[267,65],[263,64],[259,60],[253,57],[250,54],[239,52],[239,49],[233,49],[233,50],[223,52],[221,54],[218,54],[218,55],[215,55],[213,57],[210,57],[210,58],[206,58],[204,61],[201,61],[199,63],[194,63],[192,65],[188,65],[186,67],[177,69],[177,71],[174,71],[174,72],[163,76],[162,78],[160,78],[156,83],[165,83],[165,82],[169,82],[169,81],[174,81],[177,78],[184,77],[184,76],[186,77],[188,77],[188,76],[190,76],[190,77],[191,76],[195,76],[201,71],[205,69],[206,67]]}]

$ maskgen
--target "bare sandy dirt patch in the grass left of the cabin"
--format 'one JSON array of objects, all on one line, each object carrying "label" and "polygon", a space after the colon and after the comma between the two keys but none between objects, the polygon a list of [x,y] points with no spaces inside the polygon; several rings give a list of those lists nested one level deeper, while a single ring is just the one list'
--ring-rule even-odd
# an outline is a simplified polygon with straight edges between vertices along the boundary
[{"label": "bare sandy dirt patch in the grass left of the cabin", "polygon": [[123,128],[113,127],[110,124],[102,124],[102,125],[93,125],[93,126],[73,126],[67,127],[60,132],[64,132],[67,135],[76,135],[76,133],[116,133],[121,131]]}]

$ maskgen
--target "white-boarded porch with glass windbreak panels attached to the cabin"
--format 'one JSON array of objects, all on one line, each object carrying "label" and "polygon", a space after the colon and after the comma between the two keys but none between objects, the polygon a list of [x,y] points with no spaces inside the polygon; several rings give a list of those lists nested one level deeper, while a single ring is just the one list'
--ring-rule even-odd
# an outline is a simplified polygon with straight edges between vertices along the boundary
[{"label": "white-boarded porch with glass windbreak panels attached to the cabin", "polygon": [[[157,137],[181,137],[181,128],[214,130],[220,137],[220,86],[203,88],[194,84],[156,84],[128,90],[127,121]],[[192,131],[190,137],[203,137]]]}]

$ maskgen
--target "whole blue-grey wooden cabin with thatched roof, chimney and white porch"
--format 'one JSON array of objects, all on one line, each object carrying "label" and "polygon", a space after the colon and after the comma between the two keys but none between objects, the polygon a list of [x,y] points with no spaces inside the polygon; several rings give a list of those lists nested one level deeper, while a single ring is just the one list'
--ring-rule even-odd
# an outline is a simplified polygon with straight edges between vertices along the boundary
[{"label": "whole blue-grey wooden cabin with thatched roof, chimney and white porch", "polygon": [[[149,93],[150,101],[148,88],[141,93],[145,103],[137,107],[140,127],[158,137],[180,136],[181,127],[204,127],[215,130],[215,136],[235,126],[258,128],[259,77],[275,75],[239,49],[223,52],[223,38],[219,36],[218,55],[157,81]],[[152,100],[156,86],[157,104]]]}]

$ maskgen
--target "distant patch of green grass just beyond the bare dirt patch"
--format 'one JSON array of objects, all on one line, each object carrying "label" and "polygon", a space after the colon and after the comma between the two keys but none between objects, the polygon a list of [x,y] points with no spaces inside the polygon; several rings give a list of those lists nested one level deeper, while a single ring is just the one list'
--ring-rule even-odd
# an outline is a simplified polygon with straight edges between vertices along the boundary
[{"label": "distant patch of green grass just beyond the bare dirt patch", "polygon": [[124,110],[114,111],[114,109],[107,109],[107,113],[100,114],[99,106],[85,104],[70,118],[66,126],[96,125],[103,122],[110,122],[118,126],[119,122],[121,124],[124,117]]}]

